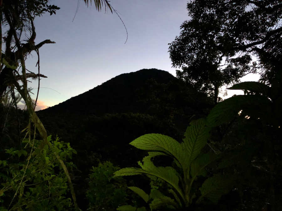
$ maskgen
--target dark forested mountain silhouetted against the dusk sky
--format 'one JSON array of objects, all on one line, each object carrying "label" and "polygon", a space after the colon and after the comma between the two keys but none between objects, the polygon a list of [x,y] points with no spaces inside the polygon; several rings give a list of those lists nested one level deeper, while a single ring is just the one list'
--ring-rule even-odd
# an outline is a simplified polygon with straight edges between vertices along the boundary
[{"label": "dark forested mountain silhouetted against the dusk sky", "polygon": [[170,73],[142,69],[37,114],[48,134],[70,142],[78,156],[88,158],[79,165],[88,168],[89,158],[95,157],[124,167],[136,164],[128,159],[136,156],[129,142],[146,133],[181,140],[191,119],[204,116],[211,106],[204,94]]}]

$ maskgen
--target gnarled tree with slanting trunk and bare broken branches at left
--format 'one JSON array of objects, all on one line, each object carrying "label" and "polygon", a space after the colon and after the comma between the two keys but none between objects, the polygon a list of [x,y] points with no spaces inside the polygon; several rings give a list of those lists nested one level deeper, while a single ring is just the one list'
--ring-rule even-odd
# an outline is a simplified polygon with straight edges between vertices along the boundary
[{"label": "gnarled tree with slanting trunk and bare broken branches at left", "polygon": [[[87,3],[88,6],[88,0],[84,0],[84,2]],[[112,11],[112,7],[107,0],[95,0],[94,3],[98,11],[100,11],[103,6],[105,6],[105,8],[109,8]],[[42,149],[45,145],[48,145],[51,149],[55,148],[53,148],[50,141],[48,141],[47,132],[34,111],[37,99],[35,100],[35,103],[33,103],[31,97],[29,96],[27,88],[27,78],[38,78],[38,81],[40,81],[40,77],[45,77],[44,75],[39,73],[39,48],[41,48],[44,44],[55,42],[51,40],[44,40],[38,44],[34,43],[34,40],[36,38],[34,18],[41,16],[45,12],[50,13],[50,15],[56,14],[56,10],[58,9],[60,8],[55,5],[49,4],[49,0],[0,1],[0,24],[7,26],[7,31],[4,33],[5,37],[3,37],[5,43],[5,51],[4,53],[2,53],[2,25],[0,25],[0,64],[2,67],[0,70],[0,96],[5,93],[7,88],[15,88],[16,91],[20,93],[21,97],[26,103],[30,119],[34,123],[35,128],[39,131],[39,134],[43,140],[39,144],[39,149]],[[24,34],[25,38],[23,38]],[[38,55],[38,74],[26,73],[27,69],[25,66],[25,60],[27,55],[32,51],[36,51]],[[20,69],[22,70],[21,75],[19,74]],[[75,192],[65,163],[62,161],[56,151],[54,151],[53,153],[59,160],[68,178],[72,198],[75,207],[78,210],[79,208],[76,203]]]}]

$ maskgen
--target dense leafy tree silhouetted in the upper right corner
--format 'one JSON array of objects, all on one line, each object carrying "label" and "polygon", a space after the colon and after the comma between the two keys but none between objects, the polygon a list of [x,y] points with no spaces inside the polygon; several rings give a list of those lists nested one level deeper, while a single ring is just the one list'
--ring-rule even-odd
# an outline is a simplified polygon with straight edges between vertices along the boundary
[{"label": "dense leafy tree silhouetted in the upper right corner", "polygon": [[[279,0],[195,0],[187,3],[191,20],[169,52],[178,78],[206,92],[217,102],[222,85],[256,73],[273,83],[281,63],[281,8]],[[251,56],[259,63],[251,63]],[[270,68],[271,67],[271,68]]]}]

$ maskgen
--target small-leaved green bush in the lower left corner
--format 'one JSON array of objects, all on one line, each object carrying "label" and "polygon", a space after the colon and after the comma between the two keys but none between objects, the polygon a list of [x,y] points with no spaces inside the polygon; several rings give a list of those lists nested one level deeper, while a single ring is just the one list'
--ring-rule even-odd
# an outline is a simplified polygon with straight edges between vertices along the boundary
[{"label": "small-leaved green bush in the lower left corner", "polygon": [[[52,149],[45,145],[38,148],[41,141],[24,139],[24,149],[6,149],[9,158],[0,160],[0,210],[70,210],[73,208],[67,177],[54,151],[65,162],[74,149],[69,143],[56,138],[51,141]],[[72,162],[66,167],[74,168]]]}]

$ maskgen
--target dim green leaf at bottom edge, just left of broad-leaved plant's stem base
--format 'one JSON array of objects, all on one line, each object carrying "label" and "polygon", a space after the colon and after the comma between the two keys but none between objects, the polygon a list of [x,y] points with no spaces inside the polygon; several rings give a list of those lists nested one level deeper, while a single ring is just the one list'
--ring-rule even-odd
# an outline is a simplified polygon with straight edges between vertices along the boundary
[{"label": "dim green leaf at bottom edge, just left of broad-leaved plant's stem base", "polygon": [[178,204],[175,203],[175,201],[172,198],[163,195],[157,189],[152,189],[151,190],[150,198],[154,199],[150,203],[151,210],[158,209],[158,208],[161,208],[161,207],[171,208],[171,209],[175,209],[175,208],[178,207]]}]

